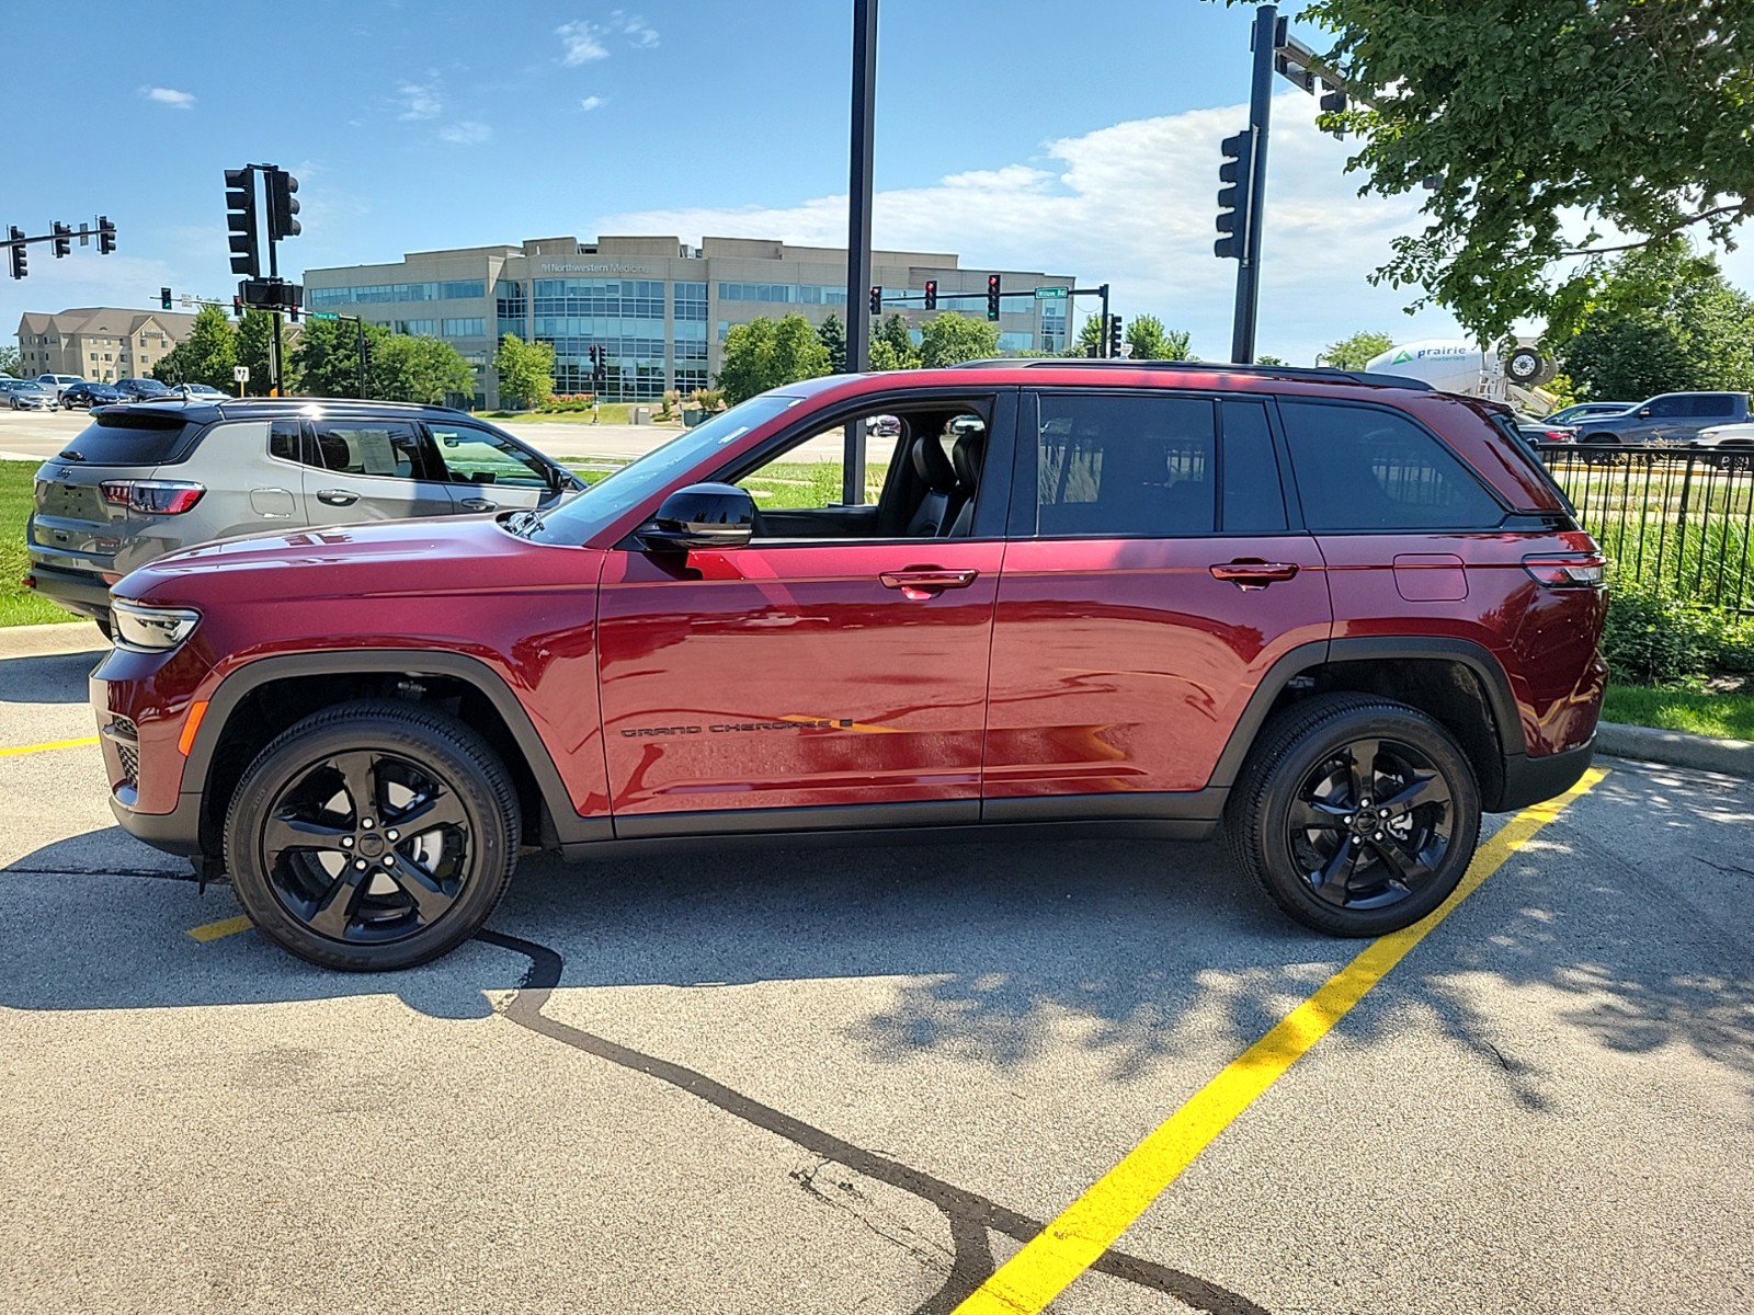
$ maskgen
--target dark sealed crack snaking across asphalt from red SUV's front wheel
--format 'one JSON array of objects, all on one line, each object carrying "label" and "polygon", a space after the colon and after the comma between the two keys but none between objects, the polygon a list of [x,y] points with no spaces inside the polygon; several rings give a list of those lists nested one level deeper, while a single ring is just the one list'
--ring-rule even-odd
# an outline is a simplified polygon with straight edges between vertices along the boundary
[{"label": "dark sealed crack snaking across asphalt from red SUV's front wheel", "polygon": [[[740,1091],[726,1087],[705,1073],[547,1017],[542,1008],[560,985],[567,963],[560,952],[502,931],[479,931],[475,940],[498,945],[502,950],[510,950],[530,959],[530,971],[524,973],[524,980],[519,984],[516,994],[500,1008],[500,1013],[507,1020],[561,1045],[570,1045],[598,1059],[607,1059],[633,1073],[656,1078],[677,1091],[707,1101],[733,1119],[740,1119],[765,1133],[782,1136],[821,1161],[844,1164],[873,1182],[898,1187],[944,1213],[951,1227],[951,1273],[945,1276],[944,1285],[914,1310],[914,1315],[949,1315],[980,1283],[993,1276],[996,1266],[989,1233],[1002,1233],[1019,1243],[1028,1243],[1044,1231],[1045,1224],[1038,1219],[1030,1219],[1023,1212],[1003,1206],[979,1192],[970,1192],[965,1187],[933,1178],[888,1155],[856,1147],[833,1133],[814,1127],[802,1119],[793,1119],[772,1105],[763,1105],[751,1096],[744,1096]],[[1205,1315],[1268,1315],[1265,1308],[1219,1283],[1116,1248],[1103,1252],[1091,1264],[1091,1269],[1114,1278],[1124,1278],[1154,1292],[1163,1292],[1196,1311],[1205,1311]]]}]

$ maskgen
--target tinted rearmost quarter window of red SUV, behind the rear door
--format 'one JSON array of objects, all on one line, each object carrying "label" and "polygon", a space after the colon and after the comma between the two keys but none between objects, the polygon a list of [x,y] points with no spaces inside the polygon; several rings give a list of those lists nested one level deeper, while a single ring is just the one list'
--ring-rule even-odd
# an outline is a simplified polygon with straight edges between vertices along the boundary
[{"label": "tinted rearmost quarter window of red SUV, behind the rear door", "polygon": [[1503,508],[1412,421],[1373,407],[1280,400],[1310,530],[1491,530]]}]

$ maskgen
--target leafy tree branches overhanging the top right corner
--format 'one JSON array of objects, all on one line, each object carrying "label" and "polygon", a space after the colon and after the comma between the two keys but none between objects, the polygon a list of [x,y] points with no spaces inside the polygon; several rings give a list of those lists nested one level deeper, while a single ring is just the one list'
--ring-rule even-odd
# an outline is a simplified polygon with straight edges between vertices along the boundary
[{"label": "leafy tree branches overhanging the top right corner", "polygon": [[1375,277],[1484,342],[1524,317],[1563,340],[1608,254],[1680,231],[1728,245],[1754,214],[1747,0],[1312,0],[1300,18],[1337,33],[1321,67],[1354,93],[1326,116],[1363,135],[1349,168],[1424,196],[1424,231]]}]

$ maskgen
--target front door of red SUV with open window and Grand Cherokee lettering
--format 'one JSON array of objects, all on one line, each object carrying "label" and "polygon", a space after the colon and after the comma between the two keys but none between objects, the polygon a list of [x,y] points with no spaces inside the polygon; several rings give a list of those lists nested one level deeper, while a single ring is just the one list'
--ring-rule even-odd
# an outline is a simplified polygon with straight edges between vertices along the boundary
[{"label": "front door of red SUV with open window and Grand Cherokee lettering", "polygon": [[[724,829],[730,812],[756,829],[975,821],[1007,494],[979,472],[989,428],[1012,423],[1012,393],[800,421],[716,475],[756,500],[747,547],[610,554],[617,835]],[[847,424],[875,458],[856,503]],[[768,812],[788,808],[837,812]]]}]

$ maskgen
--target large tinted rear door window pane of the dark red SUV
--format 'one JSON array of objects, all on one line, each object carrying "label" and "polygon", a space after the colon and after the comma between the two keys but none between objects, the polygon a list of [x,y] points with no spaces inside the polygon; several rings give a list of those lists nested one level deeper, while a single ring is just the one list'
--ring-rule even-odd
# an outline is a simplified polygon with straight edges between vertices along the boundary
[{"label": "large tinted rear door window pane of the dark red SUV", "polygon": [[1037,533],[1152,538],[1214,531],[1217,461],[1209,400],[1044,394],[1040,426]]}]

